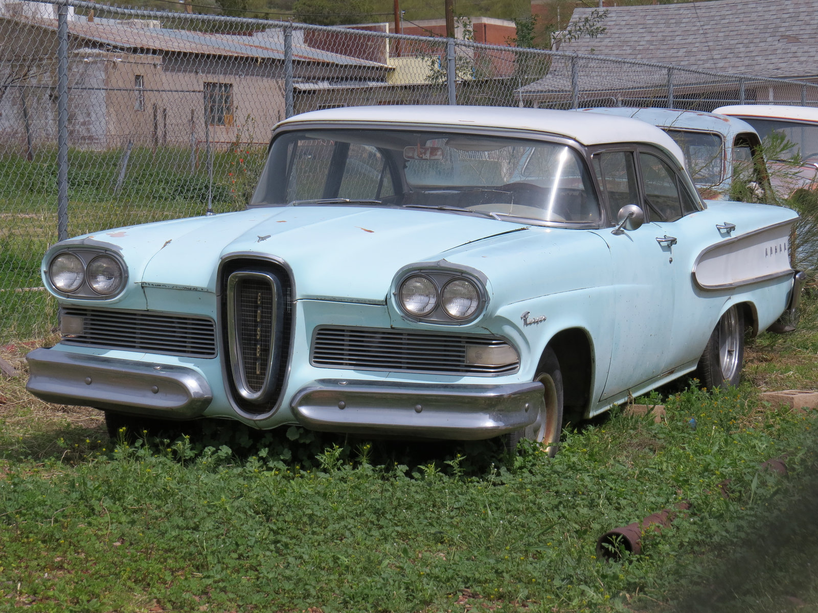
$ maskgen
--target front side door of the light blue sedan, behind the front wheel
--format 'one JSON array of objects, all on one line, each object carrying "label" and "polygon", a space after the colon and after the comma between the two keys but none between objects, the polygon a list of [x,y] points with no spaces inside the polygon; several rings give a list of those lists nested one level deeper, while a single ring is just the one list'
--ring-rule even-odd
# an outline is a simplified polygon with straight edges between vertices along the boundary
[{"label": "front side door of the light blue sedan, behind the front wheel", "polygon": [[[657,238],[661,228],[645,223],[636,230],[613,232],[617,213],[626,204],[645,208],[640,189],[637,150],[598,150],[591,158],[606,205],[608,228],[597,230],[611,257],[613,351],[608,378],[598,400],[663,374],[670,342],[675,298],[672,254]],[[601,367],[601,365],[600,365]]]}]

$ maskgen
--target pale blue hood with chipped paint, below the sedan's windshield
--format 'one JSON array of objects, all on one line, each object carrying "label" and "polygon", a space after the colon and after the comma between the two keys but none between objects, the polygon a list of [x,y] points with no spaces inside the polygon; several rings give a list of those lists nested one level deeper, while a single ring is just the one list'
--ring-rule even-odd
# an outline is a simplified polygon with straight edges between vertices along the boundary
[{"label": "pale blue hood with chipped paint, below the sedan's windshield", "polygon": [[[296,298],[377,302],[384,301],[402,266],[436,261],[449,249],[526,228],[456,213],[348,205],[257,208],[186,221],[152,225],[150,237],[142,237],[143,245],[151,238],[157,248],[142,284],[214,291],[219,260],[245,253],[285,262]],[[140,230],[125,231],[138,240]]]}]

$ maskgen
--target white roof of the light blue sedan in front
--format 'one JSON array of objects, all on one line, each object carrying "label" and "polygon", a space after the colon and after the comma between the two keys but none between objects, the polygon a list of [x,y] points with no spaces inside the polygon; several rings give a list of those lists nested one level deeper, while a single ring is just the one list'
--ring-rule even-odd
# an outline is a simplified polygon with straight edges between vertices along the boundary
[{"label": "white roof of the light blue sedan in front", "polygon": [[685,156],[679,145],[659,128],[638,119],[592,113],[578,114],[573,110],[461,105],[346,106],[294,115],[278,125],[313,121],[517,128],[567,136],[582,145],[644,142],[666,150],[676,158],[681,168],[685,168]]}]

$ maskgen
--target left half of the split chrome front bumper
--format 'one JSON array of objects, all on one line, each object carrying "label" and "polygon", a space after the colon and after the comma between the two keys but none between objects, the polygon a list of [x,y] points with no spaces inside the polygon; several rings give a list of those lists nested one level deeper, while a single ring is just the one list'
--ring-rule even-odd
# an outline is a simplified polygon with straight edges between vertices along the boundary
[{"label": "left half of the split chrome front bumper", "polygon": [[165,419],[198,417],[213,400],[202,377],[185,366],[35,349],[25,388],[60,405],[83,405]]}]

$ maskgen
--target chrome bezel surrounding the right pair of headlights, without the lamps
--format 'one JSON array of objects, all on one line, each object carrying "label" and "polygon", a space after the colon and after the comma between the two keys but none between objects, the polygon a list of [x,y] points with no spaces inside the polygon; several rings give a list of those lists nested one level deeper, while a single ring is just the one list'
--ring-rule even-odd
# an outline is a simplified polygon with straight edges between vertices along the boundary
[{"label": "chrome bezel surrounding the right pair of headlights, without the lamps", "polygon": [[[478,320],[488,305],[488,292],[486,290],[487,280],[485,275],[468,266],[457,266],[451,262],[445,262],[445,267],[438,267],[436,265],[440,265],[440,262],[424,262],[424,264],[405,266],[401,271],[398,271],[398,275],[395,276],[393,283],[392,295],[394,304],[401,315],[411,321],[443,325],[464,325],[471,324],[475,320]],[[424,315],[417,315],[411,312],[407,309],[402,300],[401,289],[412,277],[423,277],[429,280],[437,292],[437,300],[434,304],[434,308]],[[474,311],[463,317],[451,315],[443,304],[443,290],[449,284],[458,280],[465,281],[473,286],[478,294],[477,306],[474,308]]]}]

